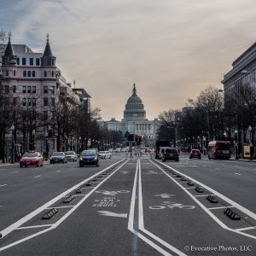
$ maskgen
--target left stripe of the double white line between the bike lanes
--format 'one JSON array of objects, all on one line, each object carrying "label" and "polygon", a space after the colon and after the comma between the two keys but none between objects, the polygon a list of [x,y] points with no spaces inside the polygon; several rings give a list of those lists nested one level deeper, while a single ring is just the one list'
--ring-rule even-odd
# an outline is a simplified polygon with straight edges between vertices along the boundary
[{"label": "left stripe of the double white line between the bike lanes", "polygon": [[[133,183],[132,194],[131,194],[131,206],[130,206],[130,212],[129,212],[128,230],[130,230],[135,236],[138,236],[140,239],[148,243],[150,247],[153,247],[155,250],[162,253],[163,255],[172,256],[170,253],[167,253],[161,247],[156,245],[153,241],[150,241],[147,237],[143,236],[137,230],[134,229],[134,212],[135,212],[136,189],[137,189],[137,170],[138,170],[138,160],[137,160],[136,172],[135,172],[134,183]],[[137,254],[137,252],[135,253]]]}]

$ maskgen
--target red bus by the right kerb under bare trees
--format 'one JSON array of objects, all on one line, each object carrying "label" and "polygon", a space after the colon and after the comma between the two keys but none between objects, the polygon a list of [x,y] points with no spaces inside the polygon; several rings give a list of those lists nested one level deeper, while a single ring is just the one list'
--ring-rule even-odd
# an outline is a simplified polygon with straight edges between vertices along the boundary
[{"label": "red bus by the right kerb under bare trees", "polygon": [[229,141],[213,141],[208,144],[208,159],[230,159],[231,143]]}]

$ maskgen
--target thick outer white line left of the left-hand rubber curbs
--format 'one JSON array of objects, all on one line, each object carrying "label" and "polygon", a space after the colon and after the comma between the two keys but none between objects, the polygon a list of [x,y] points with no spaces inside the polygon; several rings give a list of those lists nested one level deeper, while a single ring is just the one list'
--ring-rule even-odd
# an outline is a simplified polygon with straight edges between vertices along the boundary
[{"label": "thick outer white line left of the left-hand rubber curbs", "polygon": [[[121,162],[123,160],[119,160],[117,163]],[[84,179],[83,181],[81,181],[80,183],[74,185],[72,188],[67,189],[66,191],[64,191],[63,193],[61,193],[60,195],[57,195],[55,198],[53,198],[52,200],[48,201],[47,203],[45,203],[42,207],[38,207],[38,209],[36,209],[33,212],[30,212],[29,214],[27,214],[25,217],[20,218],[18,221],[16,221],[14,224],[10,224],[7,228],[5,228],[4,230],[1,230],[0,233],[2,234],[2,238],[3,236],[8,235],[12,230],[15,230],[16,228],[20,227],[22,224],[26,223],[26,221],[28,221],[29,219],[33,218],[34,216],[38,215],[38,213],[43,212],[45,208],[50,207],[51,205],[53,205],[56,201],[61,200],[61,198],[63,198],[65,195],[71,193],[74,189],[79,188],[79,186],[81,186],[82,184],[88,182],[91,178],[98,176],[100,173],[105,172],[106,170],[108,170],[109,168],[111,168],[112,166],[114,166],[116,163],[114,163],[111,166],[108,166],[107,168],[105,168],[104,170],[102,170],[101,172],[97,172],[96,174],[94,174],[91,177],[87,177],[86,179]],[[1,248],[0,248],[0,252],[1,252]]]}]

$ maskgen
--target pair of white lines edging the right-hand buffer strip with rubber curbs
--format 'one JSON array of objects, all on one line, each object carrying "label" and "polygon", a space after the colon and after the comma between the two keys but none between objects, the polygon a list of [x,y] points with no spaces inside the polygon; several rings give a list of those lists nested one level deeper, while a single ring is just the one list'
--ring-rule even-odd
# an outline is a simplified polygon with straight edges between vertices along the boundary
[{"label": "pair of white lines edging the right-hand buffer strip with rubber curbs", "polygon": [[[151,160],[150,160],[151,161]],[[151,161],[152,162],[152,161]],[[166,174],[167,177],[170,177],[174,183],[177,183],[177,181],[175,179],[173,179],[167,172],[165,172],[164,170],[162,170],[160,168],[160,166],[158,166],[157,164],[155,164],[154,162],[152,162],[154,164],[154,166],[157,166],[162,172],[164,172]],[[162,164],[166,167],[168,167],[169,169],[171,169],[174,172],[178,172],[181,175],[183,175],[183,177],[188,177],[191,181],[198,183],[199,185],[201,185],[202,187],[204,187],[205,189],[207,189],[208,191],[212,192],[213,194],[217,195],[219,198],[221,198],[222,200],[228,202],[230,205],[232,205],[233,207],[236,207],[238,210],[240,210],[241,212],[244,212],[247,216],[253,218],[256,220],[256,213],[251,212],[250,210],[248,210],[245,207],[242,207],[241,205],[239,205],[238,203],[236,203],[235,201],[230,200],[230,198],[226,197],[225,195],[222,195],[220,193],[218,193],[218,191],[208,187],[207,185],[195,180],[195,178],[189,177],[188,175],[183,174],[182,172],[177,171],[176,169],[172,168],[171,166],[167,166],[165,164]],[[198,201],[194,195],[190,194],[189,191],[187,189],[184,189],[182,185],[180,185],[179,183],[177,183],[177,185],[179,187],[181,187],[205,212],[207,212],[208,215],[210,215],[212,217],[212,219],[215,220],[216,223],[218,223],[224,230],[230,230],[231,232],[240,234],[241,236],[248,236],[251,237],[253,239],[256,239],[256,236],[252,236],[252,235],[248,235],[247,233],[242,233],[241,231],[238,230],[233,230],[231,228],[229,228],[227,225],[225,225],[219,218],[217,218],[212,212],[210,212],[207,207],[205,207],[200,201]]]}]

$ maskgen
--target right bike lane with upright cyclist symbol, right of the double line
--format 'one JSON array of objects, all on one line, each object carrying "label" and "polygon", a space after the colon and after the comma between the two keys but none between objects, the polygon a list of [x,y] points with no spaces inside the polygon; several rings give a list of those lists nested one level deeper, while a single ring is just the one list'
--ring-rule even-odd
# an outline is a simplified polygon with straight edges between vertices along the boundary
[{"label": "right bike lane with upright cyclist symbol, right of the double line", "polygon": [[138,173],[139,230],[173,255],[255,255],[255,239],[224,230],[192,198],[206,201],[206,193],[147,161]]}]

